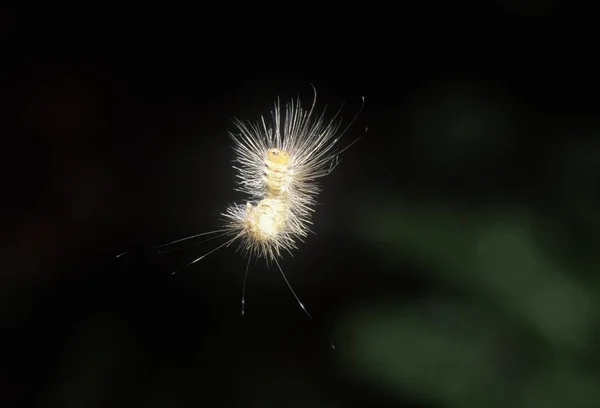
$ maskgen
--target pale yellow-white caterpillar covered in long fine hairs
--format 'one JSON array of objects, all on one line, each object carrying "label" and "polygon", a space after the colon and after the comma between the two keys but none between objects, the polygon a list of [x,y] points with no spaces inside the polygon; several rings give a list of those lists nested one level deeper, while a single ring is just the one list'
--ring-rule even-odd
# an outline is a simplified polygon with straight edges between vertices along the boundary
[{"label": "pale yellow-white caterpillar covered in long fine hairs", "polygon": [[239,240],[240,249],[248,257],[242,289],[242,315],[248,268],[250,260],[256,257],[277,265],[299,306],[312,319],[285,276],[278,258],[283,252],[291,254],[297,248],[297,241],[303,242],[311,232],[311,216],[320,192],[317,181],[330,174],[339,163],[339,155],[358,140],[337,150],[340,138],[364,107],[363,97],[360,111],[340,130],[342,108],[329,120],[325,118],[326,109],[315,114],[317,92],[314,87],[313,90],[314,98],[308,110],[302,108],[298,97],[286,104],[282,115],[278,99],[271,112],[271,121],[264,117],[258,122],[233,120],[239,132],[230,132],[238,179],[236,190],[246,194],[248,201],[227,207],[222,213],[221,228],[157,247],[206,235],[212,235],[209,239],[226,238],[225,242],[181,268],[184,269]]}]

